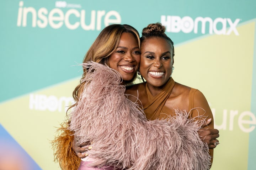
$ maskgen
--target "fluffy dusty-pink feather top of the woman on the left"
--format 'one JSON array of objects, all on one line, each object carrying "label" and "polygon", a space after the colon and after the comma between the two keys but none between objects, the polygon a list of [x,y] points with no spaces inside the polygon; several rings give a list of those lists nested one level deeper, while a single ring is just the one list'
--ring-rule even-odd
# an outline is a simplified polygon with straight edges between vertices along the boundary
[{"label": "fluffy dusty-pink feather top of the woman on the left", "polygon": [[70,114],[70,130],[80,142],[91,141],[92,165],[130,170],[207,170],[208,146],[197,130],[200,117],[177,111],[168,120],[148,121],[139,106],[124,95],[121,75],[102,64],[82,64],[88,70],[85,89]]}]

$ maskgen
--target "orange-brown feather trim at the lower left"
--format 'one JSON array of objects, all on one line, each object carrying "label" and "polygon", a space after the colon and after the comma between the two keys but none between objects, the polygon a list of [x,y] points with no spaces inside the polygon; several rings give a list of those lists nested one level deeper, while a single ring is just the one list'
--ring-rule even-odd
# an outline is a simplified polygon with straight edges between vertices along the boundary
[{"label": "orange-brown feather trim at the lower left", "polygon": [[57,129],[57,136],[51,141],[54,151],[54,162],[58,162],[62,170],[77,170],[81,159],[71,148],[74,140],[73,132],[68,130],[68,124],[62,123]]}]

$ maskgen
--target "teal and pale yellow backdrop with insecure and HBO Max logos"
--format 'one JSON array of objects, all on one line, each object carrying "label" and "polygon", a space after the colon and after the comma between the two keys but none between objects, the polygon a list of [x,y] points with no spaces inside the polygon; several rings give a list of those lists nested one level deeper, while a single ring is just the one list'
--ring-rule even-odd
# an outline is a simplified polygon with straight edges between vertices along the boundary
[{"label": "teal and pale yellow backdrop with insecure and HBO Max logos", "polygon": [[112,23],[161,22],[175,43],[174,79],[206,96],[220,131],[213,170],[256,168],[255,1],[0,1],[0,169],[53,170],[78,66]]}]

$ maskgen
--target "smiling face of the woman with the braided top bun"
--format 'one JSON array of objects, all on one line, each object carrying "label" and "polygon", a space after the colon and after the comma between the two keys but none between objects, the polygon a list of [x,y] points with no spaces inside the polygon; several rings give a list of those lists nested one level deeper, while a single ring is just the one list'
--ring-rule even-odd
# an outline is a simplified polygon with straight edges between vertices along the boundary
[{"label": "smiling face of the woman with the braided top bun", "polygon": [[141,47],[140,73],[148,85],[161,87],[172,73],[172,45],[162,38],[148,38]]}]

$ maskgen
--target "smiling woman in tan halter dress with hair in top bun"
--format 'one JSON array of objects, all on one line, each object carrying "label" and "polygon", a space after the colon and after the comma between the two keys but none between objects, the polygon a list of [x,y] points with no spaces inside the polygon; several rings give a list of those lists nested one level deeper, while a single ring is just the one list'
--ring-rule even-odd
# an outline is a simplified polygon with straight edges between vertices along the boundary
[{"label": "smiling woman in tan halter dress with hair in top bun", "polygon": [[[159,27],[159,24],[153,24],[152,26],[157,28]],[[147,28],[151,29],[152,26]],[[161,29],[161,32],[164,33],[164,27],[161,26]],[[149,120],[167,118],[168,115],[174,115],[175,109],[190,112],[191,117],[204,115],[208,119],[212,118],[212,113],[210,112],[207,101],[201,92],[175,83],[174,80],[170,78],[174,56],[173,43],[171,43],[172,41],[170,41],[165,34],[162,35],[161,33],[161,35],[158,35],[156,34],[157,32],[159,31],[156,31],[154,28],[151,29],[151,33],[145,34],[144,32],[142,37],[142,42],[144,44],[141,46],[142,63],[140,64],[140,70],[147,83],[129,86],[126,93],[133,96],[138,96],[139,100],[141,101],[141,103],[139,102],[138,104],[142,104],[143,108],[145,109],[144,111],[146,117]],[[157,46],[156,44],[159,44],[159,46],[154,48],[154,46]],[[129,95],[129,99],[134,102],[138,102],[137,98],[131,95]],[[192,108],[195,109],[191,110]],[[210,148],[214,148],[216,145],[214,145],[214,142],[218,142],[218,140],[215,139],[218,137],[218,131],[213,131],[213,119],[210,126],[212,129],[205,130],[201,132],[201,134],[204,134],[202,135],[204,136],[203,140],[207,142],[208,146]],[[66,134],[60,135],[63,137],[63,141],[66,140],[66,143],[62,144],[64,144],[64,146],[67,146],[68,144],[69,146],[64,147],[66,148],[66,151],[68,151],[65,151],[65,153],[69,153],[69,155],[65,156],[66,159],[69,159],[69,157],[72,155],[75,159],[73,152],[69,149],[72,138],[70,138],[69,135],[67,136],[67,134],[72,134],[72,132],[66,132]],[[209,134],[209,139],[205,138],[206,134]],[[75,148],[74,150],[76,153],[78,153],[80,158],[85,156],[85,154],[81,154],[81,152],[88,149],[88,147],[73,148]],[[212,154],[213,152],[211,152],[211,155]],[[64,162],[65,160],[63,163]]]}]

